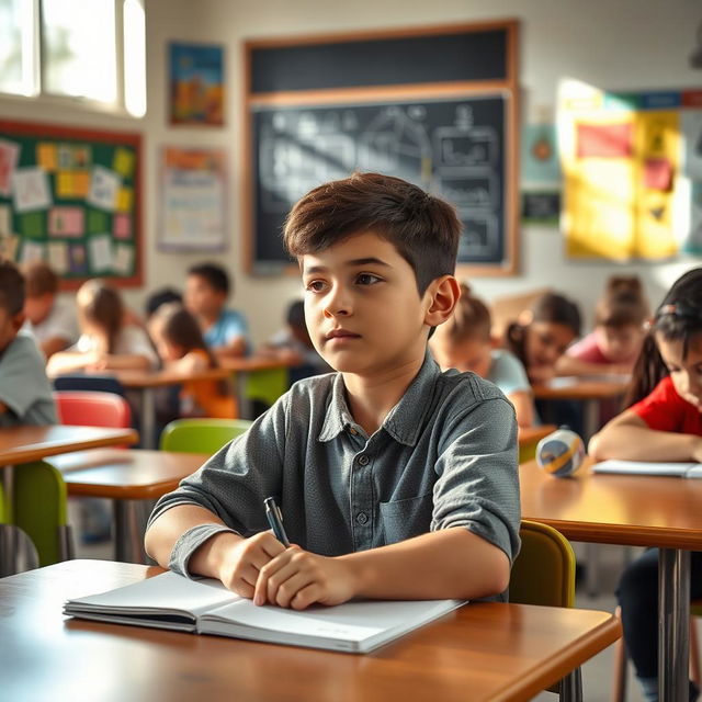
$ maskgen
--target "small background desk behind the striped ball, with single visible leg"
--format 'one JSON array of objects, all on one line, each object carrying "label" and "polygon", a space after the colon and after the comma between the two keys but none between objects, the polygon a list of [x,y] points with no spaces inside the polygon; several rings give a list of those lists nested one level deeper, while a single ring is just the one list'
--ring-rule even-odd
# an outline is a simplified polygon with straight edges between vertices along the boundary
[{"label": "small background desk behind the striped ball, with single visible leg", "polygon": [[598,376],[564,376],[555,377],[551,383],[532,387],[535,399],[576,400],[585,407],[585,439],[586,441],[598,431],[599,404],[603,399],[622,397],[629,387],[629,376],[598,375]]}]

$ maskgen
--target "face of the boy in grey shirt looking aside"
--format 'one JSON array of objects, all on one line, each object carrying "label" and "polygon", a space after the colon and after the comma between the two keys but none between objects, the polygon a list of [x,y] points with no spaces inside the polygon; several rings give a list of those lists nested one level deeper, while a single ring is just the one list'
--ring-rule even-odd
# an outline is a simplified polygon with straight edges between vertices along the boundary
[{"label": "face of the boy in grey shirt looking aside", "polygon": [[428,295],[389,241],[364,231],[304,254],[301,268],[309,336],[331,367],[372,376],[423,359]]}]

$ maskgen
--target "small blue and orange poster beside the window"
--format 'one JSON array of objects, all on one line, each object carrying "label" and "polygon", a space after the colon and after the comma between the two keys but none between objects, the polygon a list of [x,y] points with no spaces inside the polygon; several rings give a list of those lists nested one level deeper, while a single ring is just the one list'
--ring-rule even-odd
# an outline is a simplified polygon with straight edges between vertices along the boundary
[{"label": "small blue and orange poster beside the window", "polygon": [[224,48],[171,43],[170,122],[222,126],[224,124]]}]

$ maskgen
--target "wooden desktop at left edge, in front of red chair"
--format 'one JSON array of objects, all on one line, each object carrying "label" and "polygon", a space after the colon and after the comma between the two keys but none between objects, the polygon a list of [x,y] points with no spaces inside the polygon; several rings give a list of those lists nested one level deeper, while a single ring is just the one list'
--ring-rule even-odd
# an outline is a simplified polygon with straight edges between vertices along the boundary
[{"label": "wooden desktop at left edge, in front of red chair", "polygon": [[0,466],[39,461],[69,451],[136,443],[134,429],[102,427],[3,427],[0,429]]}]

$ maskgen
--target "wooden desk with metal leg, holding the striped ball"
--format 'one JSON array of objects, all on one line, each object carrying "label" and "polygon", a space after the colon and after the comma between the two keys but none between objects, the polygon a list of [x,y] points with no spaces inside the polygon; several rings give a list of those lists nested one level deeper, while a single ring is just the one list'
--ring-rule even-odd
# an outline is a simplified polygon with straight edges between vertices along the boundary
[{"label": "wooden desk with metal leg, holding the striped ball", "polygon": [[682,478],[596,475],[591,461],[556,478],[535,461],[520,466],[522,518],[568,539],[660,548],[661,700],[688,700],[690,551],[702,551],[702,484]]}]

